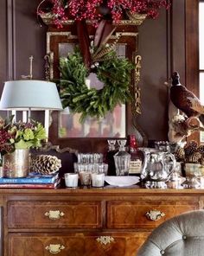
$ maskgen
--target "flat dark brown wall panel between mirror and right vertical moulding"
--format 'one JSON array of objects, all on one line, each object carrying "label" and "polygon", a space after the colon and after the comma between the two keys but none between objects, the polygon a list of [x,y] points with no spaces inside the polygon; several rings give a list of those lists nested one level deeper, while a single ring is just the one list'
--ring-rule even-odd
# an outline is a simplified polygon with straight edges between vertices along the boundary
[{"label": "flat dark brown wall panel between mirror and right vertical moulding", "polygon": [[147,20],[139,28],[139,54],[142,55],[142,115],[139,125],[152,140],[167,139],[167,14],[162,11],[156,20]]}]

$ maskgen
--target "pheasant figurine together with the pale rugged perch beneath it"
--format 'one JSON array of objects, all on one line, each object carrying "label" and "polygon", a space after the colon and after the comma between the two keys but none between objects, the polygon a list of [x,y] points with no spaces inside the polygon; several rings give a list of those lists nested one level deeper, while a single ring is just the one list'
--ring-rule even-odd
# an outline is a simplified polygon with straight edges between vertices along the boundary
[{"label": "pheasant figurine together with the pale rugged perch beneath it", "polygon": [[[204,106],[194,93],[180,83],[180,75],[171,76],[170,99],[178,109],[177,114],[169,116],[169,141],[179,142],[194,131],[204,131]],[[167,83],[165,83],[167,85]],[[180,112],[183,112],[181,114]],[[170,112],[171,113],[171,112]]]}]

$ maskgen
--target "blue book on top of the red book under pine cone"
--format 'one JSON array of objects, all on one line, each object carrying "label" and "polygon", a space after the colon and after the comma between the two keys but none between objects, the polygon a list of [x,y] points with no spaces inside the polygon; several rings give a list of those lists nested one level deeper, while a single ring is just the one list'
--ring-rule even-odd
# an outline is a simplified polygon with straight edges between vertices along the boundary
[{"label": "blue book on top of the red book under pine cone", "polygon": [[58,173],[55,173],[54,175],[30,173],[29,176],[21,178],[0,177],[0,184],[50,184],[54,183],[58,177]]}]

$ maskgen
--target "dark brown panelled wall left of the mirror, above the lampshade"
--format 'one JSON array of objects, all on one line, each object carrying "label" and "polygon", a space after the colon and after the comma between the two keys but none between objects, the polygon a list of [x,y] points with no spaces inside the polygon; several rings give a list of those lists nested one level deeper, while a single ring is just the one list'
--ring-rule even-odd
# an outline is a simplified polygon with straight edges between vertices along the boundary
[{"label": "dark brown panelled wall left of the mirror, above the lampshade", "polygon": [[1,83],[3,80],[16,80],[20,79],[22,74],[29,74],[30,55],[34,55],[35,78],[43,77],[46,29],[41,28],[35,14],[40,2],[2,0],[0,3]]}]

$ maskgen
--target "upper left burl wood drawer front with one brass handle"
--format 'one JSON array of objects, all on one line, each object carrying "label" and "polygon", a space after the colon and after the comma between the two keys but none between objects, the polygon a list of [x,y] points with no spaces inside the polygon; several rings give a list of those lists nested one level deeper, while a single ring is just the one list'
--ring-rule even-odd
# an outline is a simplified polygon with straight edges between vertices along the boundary
[{"label": "upper left burl wood drawer front with one brass handle", "polygon": [[101,215],[101,202],[8,202],[9,228],[97,228]]}]

